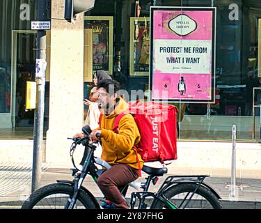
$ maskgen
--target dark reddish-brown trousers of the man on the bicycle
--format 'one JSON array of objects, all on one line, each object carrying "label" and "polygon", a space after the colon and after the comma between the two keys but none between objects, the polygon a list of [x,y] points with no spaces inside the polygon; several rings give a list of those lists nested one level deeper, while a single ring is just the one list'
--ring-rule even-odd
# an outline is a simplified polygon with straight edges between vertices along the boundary
[{"label": "dark reddish-brown trousers of the man on the bicycle", "polygon": [[128,164],[116,164],[99,176],[97,184],[106,199],[115,203],[116,208],[129,209],[118,187],[127,185],[138,177],[139,169],[134,169]]}]

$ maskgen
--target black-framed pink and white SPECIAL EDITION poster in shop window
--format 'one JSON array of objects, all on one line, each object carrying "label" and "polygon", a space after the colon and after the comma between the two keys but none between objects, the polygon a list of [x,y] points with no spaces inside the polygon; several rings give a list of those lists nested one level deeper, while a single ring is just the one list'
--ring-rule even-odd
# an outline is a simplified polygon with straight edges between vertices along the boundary
[{"label": "black-framed pink and white SPECIAL EDITION poster in shop window", "polygon": [[215,8],[152,7],[152,100],[214,101]]}]

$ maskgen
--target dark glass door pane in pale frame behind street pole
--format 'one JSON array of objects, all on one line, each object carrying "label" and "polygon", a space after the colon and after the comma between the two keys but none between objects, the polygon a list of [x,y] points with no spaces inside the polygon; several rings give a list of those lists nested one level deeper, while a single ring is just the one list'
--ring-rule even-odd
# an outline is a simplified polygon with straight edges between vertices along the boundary
[{"label": "dark glass door pane in pale frame behind street pole", "polygon": [[26,82],[35,79],[35,31],[13,31],[12,127],[33,131],[33,110],[25,109]]}]

